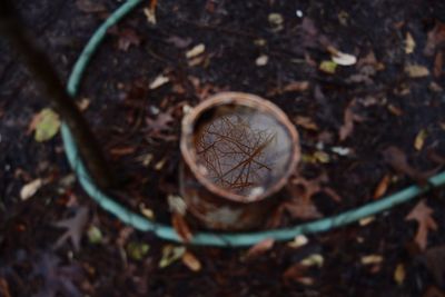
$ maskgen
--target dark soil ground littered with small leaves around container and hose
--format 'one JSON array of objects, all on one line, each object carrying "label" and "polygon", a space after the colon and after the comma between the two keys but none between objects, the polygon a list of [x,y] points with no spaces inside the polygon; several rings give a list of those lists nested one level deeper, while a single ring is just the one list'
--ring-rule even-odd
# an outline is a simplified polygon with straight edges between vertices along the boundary
[{"label": "dark soil ground littered with small leaves around container and hose", "polygon": [[[63,81],[92,32],[119,4],[16,1]],[[119,172],[118,199],[134,209],[144,202],[157,220],[170,220],[166,197],[178,192],[184,106],[221,90],[268,98],[297,125],[305,156],[299,175],[307,180],[327,176],[324,186],[340,197],[310,197],[324,216],[378,199],[374,192],[385,176],[390,176],[387,192],[394,192],[422,184],[422,172],[443,166],[445,93],[437,57],[444,51],[445,2],[159,1],[156,24],[144,13],[149,6],[144,2],[110,30],[77,98],[89,102],[83,112]],[[283,17],[283,28],[269,21],[270,13]],[[415,41],[412,53],[407,32]],[[187,59],[199,43],[205,52]],[[338,66],[335,73],[320,71],[319,63],[330,59],[328,46],[358,62]],[[257,66],[261,55],[268,61]],[[428,75],[409,75],[411,65],[426,67]],[[159,75],[169,82],[150,89]],[[368,224],[308,236],[303,247],[277,242],[246,258],[247,249],[189,246],[200,263],[197,271],[184,259],[159,268],[170,244],[99,209],[72,180],[60,136],[33,139],[30,122],[47,106],[14,50],[0,40],[0,296],[445,296],[443,189],[421,197],[437,225],[427,247],[414,240],[417,222],[406,220],[417,199]],[[354,128],[340,139],[348,125]],[[416,149],[421,130],[427,137]],[[350,154],[336,154],[336,147]],[[415,174],[392,162],[387,148],[405,154]],[[144,165],[147,155],[151,161]],[[21,188],[37,178],[44,185],[21,199]],[[89,210],[88,220],[69,224],[80,226],[71,234],[75,242],[81,236],[80,247],[70,240],[56,244],[63,229],[55,224],[82,209]],[[269,226],[303,219],[277,214]],[[92,239],[92,227],[100,240]],[[140,250],[148,246],[148,253]],[[310,255],[324,261],[301,265]],[[374,257],[370,264],[367,256]]]}]

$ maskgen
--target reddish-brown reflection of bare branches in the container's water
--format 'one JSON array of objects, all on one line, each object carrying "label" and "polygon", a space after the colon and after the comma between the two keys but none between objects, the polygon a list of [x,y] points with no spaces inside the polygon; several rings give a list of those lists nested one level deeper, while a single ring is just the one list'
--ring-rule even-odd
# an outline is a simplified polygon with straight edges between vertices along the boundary
[{"label": "reddish-brown reflection of bare branches in the container's water", "polygon": [[204,125],[196,139],[199,161],[217,185],[238,194],[263,186],[271,174],[276,132],[253,127],[239,115],[228,115]]}]

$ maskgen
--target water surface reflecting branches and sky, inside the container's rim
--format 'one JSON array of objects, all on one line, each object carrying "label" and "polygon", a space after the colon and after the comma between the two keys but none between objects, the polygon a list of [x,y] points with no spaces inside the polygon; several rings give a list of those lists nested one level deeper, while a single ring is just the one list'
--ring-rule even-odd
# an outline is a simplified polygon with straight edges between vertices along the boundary
[{"label": "water surface reflecting branches and sky, inside the container's rim", "polygon": [[253,108],[221,108],[199,125],[195,148],[199,169],[220,188],[256,197],[287,171],[288,131]]}]

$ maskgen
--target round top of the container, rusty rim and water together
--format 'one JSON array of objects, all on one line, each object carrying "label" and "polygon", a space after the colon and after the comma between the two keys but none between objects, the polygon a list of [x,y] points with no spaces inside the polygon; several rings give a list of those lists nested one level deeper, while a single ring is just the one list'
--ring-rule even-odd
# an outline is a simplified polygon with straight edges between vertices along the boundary
[{"label": "round top of the container, rusty rim and water together", "polygon": [[294,126],[257,97],[218,98],[225,97],[191,112],[190,133],[184,135],[190,169],[211,191],[233,200],[249,202],[277,191],[299,156]]}]

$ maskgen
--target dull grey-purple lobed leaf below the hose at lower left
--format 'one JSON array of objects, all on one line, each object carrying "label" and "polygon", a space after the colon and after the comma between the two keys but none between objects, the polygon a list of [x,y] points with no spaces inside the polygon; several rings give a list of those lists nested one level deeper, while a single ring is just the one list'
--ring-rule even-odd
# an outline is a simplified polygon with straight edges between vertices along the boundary
[{"label": "dull grey-purple lobed leaf below the hose at lower left", "polygon": [[65,219],[55,222],[53,225],[58,228],[66,228],[67,231],[57,240],[55,248],[60,248],[68,239],[71,240],[71,244],[76,251],[80,250],[80,239],[82,237],[82,232],[88,222],[88,208],[80,207],[76,215],[70,219]]}]

